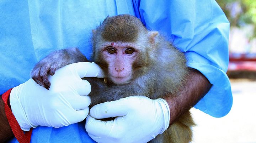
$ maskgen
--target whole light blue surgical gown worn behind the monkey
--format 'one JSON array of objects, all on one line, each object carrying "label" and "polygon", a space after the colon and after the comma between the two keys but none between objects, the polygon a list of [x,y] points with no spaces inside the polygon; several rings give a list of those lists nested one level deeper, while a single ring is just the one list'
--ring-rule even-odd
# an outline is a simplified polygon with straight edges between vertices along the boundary
[{"label": "whole light blue surgical gown worn behind the monkey", "polygon": [[[214,116],[232,105],[228,67],[229,22],[214,0],[3,0],[0,2],[0,94],[26,82],[30,70],[54,50],[79,47],[90,59],[91,30],[109,15],[137,16],[185,53],[187,65],[213,84],[194,107]],[[17,142],[15,139],[12,142]],[[38,126],[32,142],[93,142],[84,122]]]}]

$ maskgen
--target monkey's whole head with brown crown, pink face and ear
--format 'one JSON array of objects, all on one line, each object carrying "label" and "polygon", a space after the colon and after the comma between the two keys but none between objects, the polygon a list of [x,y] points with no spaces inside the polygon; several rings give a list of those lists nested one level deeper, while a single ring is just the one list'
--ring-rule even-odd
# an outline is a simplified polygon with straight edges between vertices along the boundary
[{"label": "monkey's whole head with brown crown, pink face and ear", "polygon": [[156,35],[134,16],[107,17],[93,30],[94,62],[105,71],[108,80],[127,84],[148,69]]}]

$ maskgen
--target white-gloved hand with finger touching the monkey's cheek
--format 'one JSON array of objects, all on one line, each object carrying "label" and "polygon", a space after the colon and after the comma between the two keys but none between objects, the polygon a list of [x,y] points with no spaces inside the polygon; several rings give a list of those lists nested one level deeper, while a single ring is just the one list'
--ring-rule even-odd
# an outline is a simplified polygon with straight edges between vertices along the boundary
[{"label": "white-gloved hand with finger touching the monkey's cheek", "polygon": [[82,77],[103,78],[95,63],[74,63],[56,70],[49,76],[50,90],[32,79],[14,87],[10,93],[12,113],[23,131],[31,127],[62,127],[86,118],[91,99],[90,83]]}]

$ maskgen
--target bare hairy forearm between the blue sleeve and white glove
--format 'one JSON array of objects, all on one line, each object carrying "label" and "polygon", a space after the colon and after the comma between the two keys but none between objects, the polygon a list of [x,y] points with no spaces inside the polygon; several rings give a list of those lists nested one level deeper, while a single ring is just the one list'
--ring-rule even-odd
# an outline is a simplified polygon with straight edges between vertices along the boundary
[{"label": "bare hairy forearm between the blue sleeve and white glove", "polygon": [[212,87],[208,79],[195,69],[191,69],[186,79],[187,84],[178,96],[165,98],[170,107],[170,125],[203,98]]}]

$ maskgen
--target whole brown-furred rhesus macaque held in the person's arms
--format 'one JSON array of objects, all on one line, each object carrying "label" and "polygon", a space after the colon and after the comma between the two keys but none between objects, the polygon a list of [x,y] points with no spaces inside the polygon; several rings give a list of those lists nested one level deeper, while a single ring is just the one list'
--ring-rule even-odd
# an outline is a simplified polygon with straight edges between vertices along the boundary
[{"label": "whole brown-furred rhesus macaque held in the person's arms", "polygon": [[[159,32],[147,30],[130,15],[107,17],[93,31],[93,62],[105,72],[103,79],[84,78],[91,84],[91,105],[144,95],[151,99],[178,96],[188,74],[186,59]],[[88,62],[78,48],[55,51],[36,64],[32,79],[49,89],[48,74],[70,63]],[[188,143],[192,140],[192,117],[187,111],[150,142]]]}]

